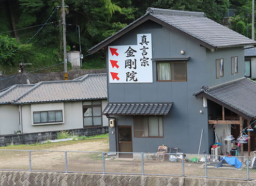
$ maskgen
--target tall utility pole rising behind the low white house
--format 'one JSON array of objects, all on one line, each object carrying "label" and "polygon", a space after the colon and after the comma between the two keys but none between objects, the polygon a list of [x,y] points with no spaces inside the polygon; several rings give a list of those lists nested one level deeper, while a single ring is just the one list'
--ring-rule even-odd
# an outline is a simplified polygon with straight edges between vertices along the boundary
[{"label": "tall utility pole rising behind the low white house", "polygon": [[65,3],[62,0],[62,24],[63,24],[63,53],[64,53],[64,79],[68,80],[68,66],[67,66],[67,46],[66,46],[66,13]]}]

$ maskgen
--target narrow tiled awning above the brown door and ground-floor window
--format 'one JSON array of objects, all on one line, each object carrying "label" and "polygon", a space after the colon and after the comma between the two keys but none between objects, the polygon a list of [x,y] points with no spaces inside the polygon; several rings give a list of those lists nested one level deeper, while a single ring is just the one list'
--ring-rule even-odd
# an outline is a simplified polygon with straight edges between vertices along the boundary
[{"label": "narrow tiled awning above the brown door and ground-floor window", "polygon": [[168,115],[173,103],[108,103],[104,115]]}]

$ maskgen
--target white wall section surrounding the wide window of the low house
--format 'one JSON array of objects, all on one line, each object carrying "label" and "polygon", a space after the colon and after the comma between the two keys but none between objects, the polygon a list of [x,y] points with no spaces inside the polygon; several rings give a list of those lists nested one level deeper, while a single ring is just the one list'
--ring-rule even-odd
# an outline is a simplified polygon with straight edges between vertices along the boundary
[{"label": "white wall section surrounding the wide window of the low house", "polygon": [[[63,110],[63,122],[51,125],[33,125],[33,112]],[[82,101],[38,103],[22,106],[23,133],[83,128]]]}]

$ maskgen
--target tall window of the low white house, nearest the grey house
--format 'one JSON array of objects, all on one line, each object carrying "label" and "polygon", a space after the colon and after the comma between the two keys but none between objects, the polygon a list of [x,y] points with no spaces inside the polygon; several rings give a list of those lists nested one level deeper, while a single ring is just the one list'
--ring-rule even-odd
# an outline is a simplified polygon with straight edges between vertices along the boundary
[{"label": "tall window of the low white house, nearest the grey house", "polygon": [[101,100],[83,102],[84,127],[102,126]]}]

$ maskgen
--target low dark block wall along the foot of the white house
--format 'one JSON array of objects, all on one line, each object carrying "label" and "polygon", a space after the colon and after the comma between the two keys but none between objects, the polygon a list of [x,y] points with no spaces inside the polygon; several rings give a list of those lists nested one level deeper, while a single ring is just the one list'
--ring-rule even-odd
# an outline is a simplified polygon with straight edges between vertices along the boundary
[{"label": "low dark block wall along the foot of the white house", "polygon": [[[107,134],[108,127],[89,127],[89,128],[72,129],[72,130],[65,130],[65,131],[78,136],[81,136],[81,135],[93,136],[98,134]],[[36,144],[42,141],[47,141],[48,139],[49,140],[56,139],[57,132],[59,131],[0,135],[0,146]]]}]

